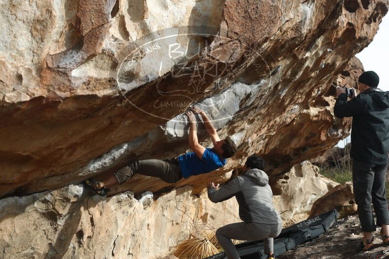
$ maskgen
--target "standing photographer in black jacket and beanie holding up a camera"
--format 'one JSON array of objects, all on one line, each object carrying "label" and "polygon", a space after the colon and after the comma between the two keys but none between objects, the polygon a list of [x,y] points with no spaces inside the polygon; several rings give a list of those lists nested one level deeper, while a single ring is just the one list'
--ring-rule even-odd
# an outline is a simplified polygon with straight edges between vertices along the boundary
[{"label": "standing photographer in black jacket and beanie holding up a camera", "polygon": [[337,87],[334,107],[338,118],[353,117],[351,150],[353,158],[353,186],[355,202],[363,234],[361,248],[372,248],[372,232],[381,226],[383,242],[389,245],[389,210],[386,200],[385,178],[389,150],[389,92],[378,89],[379,77],[373,71],[360,75],[360,94],[347,101],[345,89]]}]

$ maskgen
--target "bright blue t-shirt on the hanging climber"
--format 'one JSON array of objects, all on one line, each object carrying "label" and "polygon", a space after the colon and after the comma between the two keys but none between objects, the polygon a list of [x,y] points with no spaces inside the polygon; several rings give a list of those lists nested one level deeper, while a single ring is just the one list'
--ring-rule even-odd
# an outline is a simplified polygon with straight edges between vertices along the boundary
[{"label": "bright blue t-shirt on the hanging climber", "polygon": [[181,173],[184,178],[201,175],[216,170],[227,162],[221,159],[212,148],[205,148],[202,159],[196,153],[186,153],[178,157]]}]

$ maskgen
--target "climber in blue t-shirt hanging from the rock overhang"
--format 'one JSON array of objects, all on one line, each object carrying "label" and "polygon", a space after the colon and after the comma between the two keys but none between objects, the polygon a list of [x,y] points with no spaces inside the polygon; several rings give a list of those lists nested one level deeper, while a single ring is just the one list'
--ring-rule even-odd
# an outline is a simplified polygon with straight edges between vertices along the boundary
[{"label": "climber in blue t-shirt hanging from the rock overhang", "polygon": [[[134,174],[158,177],[165,182],[175,183],[181,178],[209,173],[224,166],[227,158],[232,157],[237,150],[235,143],[230,137],[220,140],[211,120],[199,108],[190,108],[185,114],[190,124],[189,147],[193,152],[173,159],[133,160],[106,180],[88,179],[85,183],[91,186],[96,194],[105,196],[109,192],[109,187],[123,183]],[[195,114],[202,116],[204,127],[211,137],[214,147],[205,148],[199,144]]]}]

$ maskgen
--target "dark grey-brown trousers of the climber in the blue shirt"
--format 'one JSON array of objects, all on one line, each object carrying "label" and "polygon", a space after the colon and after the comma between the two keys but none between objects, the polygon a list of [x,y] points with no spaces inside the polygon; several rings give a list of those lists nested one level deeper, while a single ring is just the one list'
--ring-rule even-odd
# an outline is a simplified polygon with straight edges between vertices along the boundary
[{"label": "dark grey-brown trousers of the climber in the blue shirt", "polygon": [[131,178],[134,174],[157,177],[168,183],[175,183],[182,178],[180,165],[175,158],[133,160],[114,173],[119,184]]}]

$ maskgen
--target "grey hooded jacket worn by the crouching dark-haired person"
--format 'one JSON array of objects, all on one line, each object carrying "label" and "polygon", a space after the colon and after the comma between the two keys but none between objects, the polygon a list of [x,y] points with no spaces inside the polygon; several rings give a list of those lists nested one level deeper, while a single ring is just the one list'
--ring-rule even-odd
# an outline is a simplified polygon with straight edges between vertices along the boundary
[{"label": "grey hooded jacket worn by the crouching dark-haired person", "polygon": [[281,217],[274,209],[269,178],[259,169],[250,169],[242,176],[229,181],[219,190],[208,189],[212,202],[221,202],[236,196],[239,204],[239,217],[245,223],[279,224]]}]

